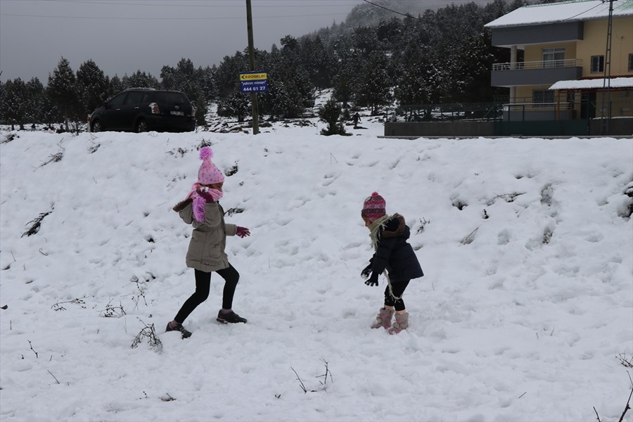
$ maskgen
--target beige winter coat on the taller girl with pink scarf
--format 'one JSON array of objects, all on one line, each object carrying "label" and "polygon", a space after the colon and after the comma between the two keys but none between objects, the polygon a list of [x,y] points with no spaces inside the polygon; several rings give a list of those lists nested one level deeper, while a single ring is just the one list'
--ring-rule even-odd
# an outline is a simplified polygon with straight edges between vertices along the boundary
[{"label": "beige winter coat on the taller girl with pink scarf", "polygon": [[185,200],[174,207],[182,221],[193,226],[187,267],[211,272],[229,267],[229,257],[224,252],[226,236],[235,236],[237,226],[224,223],[224,210],[219,203],[206,203],[205,221],[193,219],[193,201]]}]

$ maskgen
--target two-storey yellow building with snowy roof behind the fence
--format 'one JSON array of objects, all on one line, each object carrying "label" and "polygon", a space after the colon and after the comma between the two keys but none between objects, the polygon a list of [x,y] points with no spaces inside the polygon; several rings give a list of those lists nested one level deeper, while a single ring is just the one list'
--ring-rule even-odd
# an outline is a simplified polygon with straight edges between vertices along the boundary
[{"label": "two-storey yellow building with snowy roof behind the fence", "polygon": [[603,121],[633,134],[633,0],[523,6],[485,26],[511,51],[491,76],[510,89],[504,120],[613,117]]}]

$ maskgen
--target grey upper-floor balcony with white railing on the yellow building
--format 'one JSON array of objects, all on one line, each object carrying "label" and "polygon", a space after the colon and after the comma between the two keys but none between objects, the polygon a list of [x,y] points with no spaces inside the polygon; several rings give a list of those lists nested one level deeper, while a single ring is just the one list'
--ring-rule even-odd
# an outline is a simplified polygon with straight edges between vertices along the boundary
[{"label": "grey upper-floor balcony with white railing on the yellow building", "polygon": [[494,63],[490,84],[493,87],[547,85],[580,77],[582,77],[582,60],[577,58]]}]

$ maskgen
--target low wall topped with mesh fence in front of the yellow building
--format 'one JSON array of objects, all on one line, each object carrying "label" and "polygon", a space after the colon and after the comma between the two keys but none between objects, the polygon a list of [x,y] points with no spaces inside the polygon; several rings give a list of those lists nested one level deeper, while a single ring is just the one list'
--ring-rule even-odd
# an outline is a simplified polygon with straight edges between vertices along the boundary
[{"label": "low wall topped with mesh fence in front of the yellow building", "polygon": [[[562,97],[561,97],[562,98]],[[584,136],[633,134],[633,96],[615,93],[603,110],[594,95],[565,96],[565,101],[532,101],[533,98],[498,96],[487,103],[449,103],[399,106],[390,123],[419,123],[402,130],[415,136],[459,136],[478,132],[481,136]],[[544,98],[545,99],[545,98]],[[606,107],[610,107],[608,110]],[[603,119],[603,115],[611,116]],[[459,127],[447,122],[471,122]],[[485,126],[485,122],[490,124]],[[397,132],[391,124],[389,130]],[[631,129],[629,129],[629,127]],[[486,134],[482,134],[486,132]],[[490,133],[488,133],[490,132]]]}]

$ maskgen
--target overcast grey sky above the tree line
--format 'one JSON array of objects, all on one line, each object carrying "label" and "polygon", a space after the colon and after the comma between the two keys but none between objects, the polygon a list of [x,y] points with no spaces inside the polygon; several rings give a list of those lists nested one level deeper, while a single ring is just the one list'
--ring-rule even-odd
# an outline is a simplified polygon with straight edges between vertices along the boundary
[{"label": "overcast grey sky above the tree line", "polygon": [[[252,0],[255,48],[343,22],[360,3]],[[0,0],[3,82],[46,85],[62,56],[75,71],[92,59],[110,77],[142,70],[160,79],[181,58],[204,68],[246,46],[245,0]]]}]

